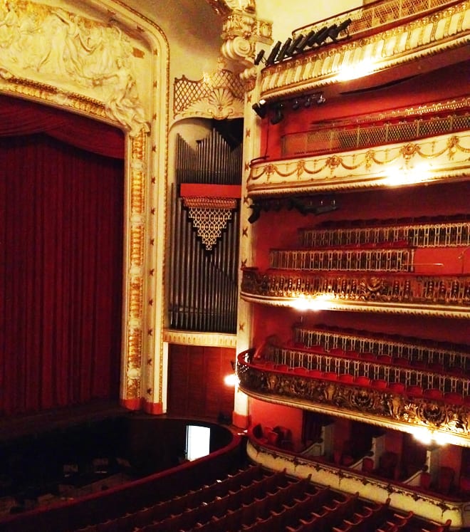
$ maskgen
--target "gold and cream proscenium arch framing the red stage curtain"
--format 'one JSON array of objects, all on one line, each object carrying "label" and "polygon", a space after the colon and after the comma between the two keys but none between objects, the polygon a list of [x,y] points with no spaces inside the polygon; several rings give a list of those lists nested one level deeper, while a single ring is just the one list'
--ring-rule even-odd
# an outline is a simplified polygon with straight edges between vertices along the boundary
[{"label": "gold and cream proscenium arch framing the red stage curtain", "polygon": [[[85,26],[88,24],[92,28],[107,28],[113,24],[131,43],[140,43],[140,50],[134,48],[137,58],[142,58],[143,48],[145,67],[141,70],[148,76],[146,83],[150,88],[146,105],[138,105],[142,98],[139,94],[130,102],[129,109],[122,107],[125,112],[128,110],[124,116],[119,115],[120,104],[117,106],[117,112],[111,108],[112,103],[123,95],[122,92],[117,92],[122,89],[122,85],[119,87],[116,83],[116,88],[110,89],[114,90],[115,94],[108,93],[106,98],[103,98],[103,90],[100,90],[98,85],[77,82],[83,80],[83,71],[67,71],[70,73],[67,79],[53,76],[56,83],[50,84],[33,68],[11,68],[7,48],[3,48],[6,53],[0,57],[0,93],[87,115],[124,130],[125,212],[120,402],[132,410],[144,407],[149,412],[160,413],[163,405],[164,313],[160,312],[160,308],[164,300],[164,239],[158,236],[166,232],[169,116],[167,39],[156,24],[118,1],[88,0],[80,6],[81,11],[77,10],[76,4],[67,4],[65,1],[59,8],[26,0],[17,0],[10,5],[12,7],[9,9],[14,10],[16,16],[26,16],[27,12],[36,11],[40,14],[40,21],[50,21],[53,18],[54,24],[59,25],[73,24],[75,16],[77,21],[85,21]],[[89,18],[89,13],[93,13],[93,18]],[[61,22],[61,16],[66,19],[64,23]],[[12,31],[15,30],[13,26]],[[61,33],[58,32],[59,34]],[[28,36],[34,39],[37,34],[31,32]],[[47,41],[51,35],[46,33],[43,38]],[[66,39],[67,36],[63,38]],[[43,41],[44,50],[56,51],[51,46],[52,41],[46,41]],[[29,53],[29,48],[25,51]],[[110,60],[120,64],[117,56],[111,57]],[[69,69],[73,66],[73,62],[68,63]],[[132,103],[136,104],[134,109]],[[129,102],[124,105],[126,104]]]}]

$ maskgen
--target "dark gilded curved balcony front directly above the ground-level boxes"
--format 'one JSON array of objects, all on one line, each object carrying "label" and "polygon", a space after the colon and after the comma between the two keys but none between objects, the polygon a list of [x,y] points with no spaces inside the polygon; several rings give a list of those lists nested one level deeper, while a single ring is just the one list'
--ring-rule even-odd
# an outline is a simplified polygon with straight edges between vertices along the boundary
[{"label": "dark gilded curved balcony front directly above the ground-level boxes", "polygon": [[367,419],[368,423],[394,427],[405,432],[414,428],[439,432],[452,442],[470,447],[470,407],[429,397],[398,395],[389,390],[349,385],[319,377],[274,372],[244,363],[236,364],[240,390],[267,402],[302,407]]}]

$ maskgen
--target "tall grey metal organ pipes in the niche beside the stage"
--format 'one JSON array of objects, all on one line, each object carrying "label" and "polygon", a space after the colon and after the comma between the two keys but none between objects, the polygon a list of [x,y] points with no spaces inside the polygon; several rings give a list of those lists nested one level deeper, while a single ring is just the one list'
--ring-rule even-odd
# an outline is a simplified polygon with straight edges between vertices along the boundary
[{"label": "tall grey metal organ pipes in the niche beside the stage", "polygon": [[177,135],[170,220],[170,328],[236,332],[239,200],[216,245],[208,251],[179,197],[179,184],[241,184],[241,150],[241,143],[230,147],[215,129],[197,141],[197,150]]}]

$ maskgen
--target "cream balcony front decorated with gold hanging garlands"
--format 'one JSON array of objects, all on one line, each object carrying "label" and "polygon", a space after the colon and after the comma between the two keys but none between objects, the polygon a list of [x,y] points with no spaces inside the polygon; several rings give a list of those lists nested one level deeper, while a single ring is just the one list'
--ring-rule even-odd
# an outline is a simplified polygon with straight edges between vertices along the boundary
[{"label": "cream balcony front decorated with gold hanging garlands", "polygon": [[[250,197],[362,189],[399,184],[464,179],[470,169],[470,135],[441,135],[416,142],[322,157],[251,164],[246,189]],[[432,163],[432,164],[431,164]]]}]

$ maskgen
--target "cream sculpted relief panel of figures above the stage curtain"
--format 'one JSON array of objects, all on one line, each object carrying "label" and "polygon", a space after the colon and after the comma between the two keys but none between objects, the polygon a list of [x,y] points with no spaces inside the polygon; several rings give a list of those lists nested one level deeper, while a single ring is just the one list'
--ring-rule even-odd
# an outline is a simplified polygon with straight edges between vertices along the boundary
[{"label": "cream sculpted relief panel of figures above the stage curtain", "polygon": [[0,3],[0,77],[25,75],[101,100],[131,136],[149,130],[137,93],[132,43],[115,24],[21,0]]}]

